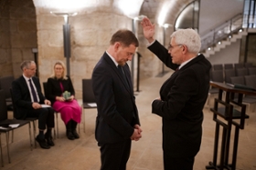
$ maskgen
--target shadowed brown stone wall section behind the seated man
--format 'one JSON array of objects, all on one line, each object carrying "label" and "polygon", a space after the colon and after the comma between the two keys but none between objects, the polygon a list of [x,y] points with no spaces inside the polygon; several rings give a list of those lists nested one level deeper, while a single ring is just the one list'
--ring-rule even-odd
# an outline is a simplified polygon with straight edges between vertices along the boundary
[{"label": "shadowed brown stone wall section behind the seated man", "polygon": [[34,60],[37,48],[36,10],[32,0],[1,1],[0,68],[1,75],[21,75],[23,60]]}]

